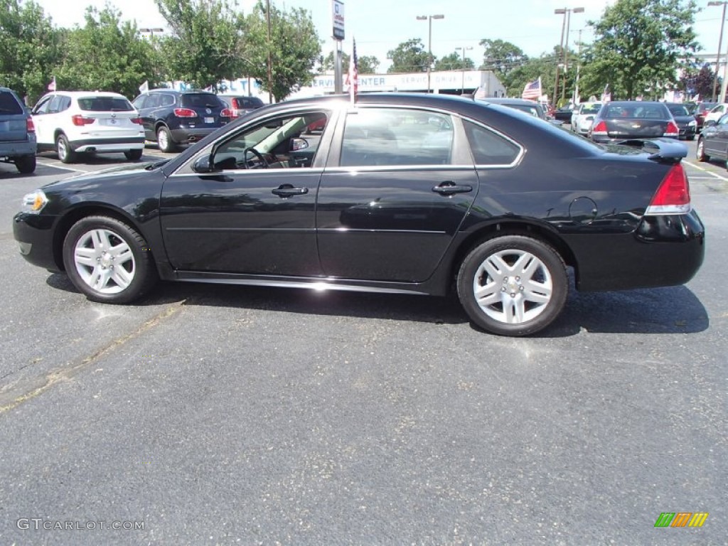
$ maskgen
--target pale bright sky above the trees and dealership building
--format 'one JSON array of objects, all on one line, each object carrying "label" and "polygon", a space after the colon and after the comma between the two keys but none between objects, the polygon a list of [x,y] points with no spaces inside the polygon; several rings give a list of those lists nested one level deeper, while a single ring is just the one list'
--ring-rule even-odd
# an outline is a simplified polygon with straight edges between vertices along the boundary
[{"label": "pale bright sky above the trees and dealership building", "polygon": [[[122,20],[135,20],[139,28],[166,28],[164,18],[159,15],[154,0],[36,0],[46,15],[52,17],[57,26],[82,25],[87,6],[103,9],[108,1],[122,12]],[[307,9],[316,25],[323,44],[323,55],[333,51],[331,0],[271,0],[279,9]],[[472,59],[475,66],[483,60],[482,39],[502,39],[520,47],[526,55],[538,57],[550,52],[561,41],[563,15],[556,15],[554,9],[583,7],[584,13],[571,13],[569,46],[577,48],[578,31],[582,29],[582,40],[593,40],[587,21],[597,20],[604,8],[614,0],[344,0],[343,49],[350,52],[352,36],[356,39],[357,55],[373,55],[379,59],[379,71],[387,71],[390,62],[387,52],[394,50],[400,42],[421,39],[428,44],[430,21],[417,20],[422,15],[444,15],[443,19],[432,20],[432,55],[437,58],[457,52]],[[238,0],[237,5],[248,14],[255,0]],[[721,28],[721,8],[707,7],[708,0],[697,0],[702,11],[695,15],[695,30],[703,52],[715,54]],[[727,28],[728,31],[728,28]],[[726,50],[728,32],[724,35]],[[467,48],[472,49],[467,49]]]}]

